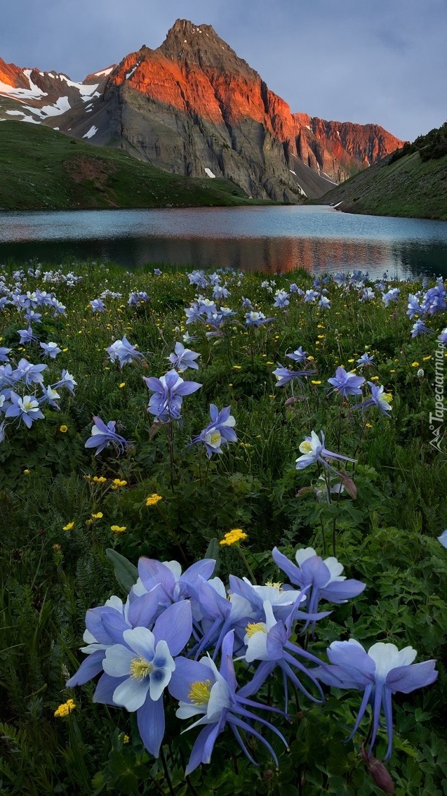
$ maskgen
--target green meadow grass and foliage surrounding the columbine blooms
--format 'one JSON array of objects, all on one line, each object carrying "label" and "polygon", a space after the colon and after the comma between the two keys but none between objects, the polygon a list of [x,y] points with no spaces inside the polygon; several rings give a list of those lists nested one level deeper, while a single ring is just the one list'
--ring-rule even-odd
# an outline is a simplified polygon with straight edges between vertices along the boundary
[{"label": "green meadow grass and foliage surrounding the columbine blooms", "polygon": [[[23,276],[17,266],[4,271],[6,283],[18,280],[22,293],[36,287],[54,291],[66,306],[66,315],[56,318],[42,310],[33,330],[62,349],[56,361],[45,360],[45,384],[58,380],[64,368],[77,386],[74,396],[60,390],[60,410],[45,407],[45,419],[30,430],[23,423],[8,424],[0,445],[0,794],[383,792],[360,755],[367,720],[344,743],[355,722],[357,693],[327,689],[323,707],[293,695],[290,752],[273,744],[279,771],[262,747],[255,747],[256,768],[223,735],[212,763],[185,780],[191,741],[189,734],[179,736],[172,714],[163,755],[154,759],[142,746],[134,714],[94,704],[91,683],[65,687],[82,660],[85,612],[112,594],[125,596],[107,548],[133,564],[139,556],[192,564],[212,540],[240,528],[247,533],[243,550],[258,583],[282,579],[269,556],[275,545],[289,555],[309,545],[332,555],[334,543],[348,577],[367,583],[363,594],[335,606],[319,623],[316,638],[309,639],[314,654],[325,659],[329,643],[353,636],[366,647],[378,640],[395,642],[399,649],[414,646],[418,661],[437,659],[434,685],[395,697],[389,767],[399,796],[442,796],[447,791],[447,551],[437,537],[447,527],[447,457],[430,445],[436,338],[410,338],[406,316],[407,295],[420,283],[395,283],[400,295],[390,306],[379,291],[363,303],[355,288],[340,291],[331,282],[330,310],[306,304],[297,294],[290,294],[286,309],[273,309],[274,291],[288,290],[291,282],[309,289],[312,278],[294,271],[275,275],[274,284],[267,279],[262,287],[266,275],[223,273],[230,291],[223,303],[237,314],[221,337],[207,338],[209,326],[185,325],[184,309],[196,287],[181,269],[160,267],[161,275],[154,275],[153,266],[130,273],[113,263],[66,263],[61,271],[82,277],[74,287],[57,275],[54,283],[44,283],[45,266],[37,263],[32,263],[37,277],[27,275],[29,264]],[[106,311],[93,313],[89,302],[103,291],[121,296],[106,295]],[[146,291],[150,300],[128,306],[130,291]],[[203,292],[210,297],[209,289]],[[248,329],[246,310],[240,309],[243,296],[274,322]],[[0,317],[0,345],[13,349],[11,361],[39,361],[38,343],[17,344],[24,321],[16,308],[6,306]],[[445,314],[433,315],[428,324],[439,334]],[[169,369],[167,357],[185,331],[196,336],[185,345],[200,353],[200,368],[183,376],[202,387],[185,397],[172,461],[167,427],[153,427],[148,415],[142,376],[160,377]],[[107,357],[107,346],[123,335],[144,353],[142,364],[120,369]],[[285,354],[298,345],[313,357],[317,371],[302,394],[296,382],[277,387],[272,373],[278,362],[290,365]],[[352,399],[328,394],[327,380],[336,367],[356,368],[365,350],[374,365],[364,375],[392,394],[391,417],[377,408],[363,416],[352,411]],[[208,460],[190,442],[209,422],[210,403],[220,409],[231,405],[238,442]],[[117,421],[116,430],[132,443],[124,455],[106,448],[94,456],[84,447],[94,415]],[[331,451],[357,459],[349,468],[356,497],[345,493],[331,505],[318,501],[317,468],[296,470],[299,446],[312,430],[325,431]],[[114,488],[115,479],[125,483]],[[161,501],[147,506],[151,494]],[[113,532],[114,525],[125,530]],[[237,548],[220,548],[219,557],[223,579],[229,572],[247,575]],[[76,708],[55,716],[69,699]],[[386,744],[383,732],[379,735],[380,759]]]}]

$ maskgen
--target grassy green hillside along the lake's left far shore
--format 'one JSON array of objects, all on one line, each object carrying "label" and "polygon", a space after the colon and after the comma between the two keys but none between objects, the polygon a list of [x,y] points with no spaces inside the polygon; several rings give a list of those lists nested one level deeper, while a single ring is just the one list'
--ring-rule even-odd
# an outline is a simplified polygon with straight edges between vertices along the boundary
[{"label": "grassy green hillside along the lake's left far shore", "polygon": [[37,124],[0,124],[3,210],[244,204],[258,202],[228,180],[168,174],[120,150],[92,146]]}]

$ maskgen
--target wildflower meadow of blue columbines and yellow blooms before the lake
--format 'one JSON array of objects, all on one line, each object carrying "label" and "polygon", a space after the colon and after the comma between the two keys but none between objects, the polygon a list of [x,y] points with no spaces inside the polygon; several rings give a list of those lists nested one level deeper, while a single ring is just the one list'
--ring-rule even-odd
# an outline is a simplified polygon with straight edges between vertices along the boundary
[{"label": "wildflower meadow of blue columbines and yellow blooms before the lake", "polygon": [[446,306],[3,267],[0,794],[447,792]]}]

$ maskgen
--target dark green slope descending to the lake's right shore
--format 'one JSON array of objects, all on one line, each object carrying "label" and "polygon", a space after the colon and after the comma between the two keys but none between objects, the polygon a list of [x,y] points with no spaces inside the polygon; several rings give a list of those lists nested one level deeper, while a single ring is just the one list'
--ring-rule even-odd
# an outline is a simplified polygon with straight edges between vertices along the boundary
[{"label": "dark green slope descending to the lake's right shore", "polygon": [[346,213],[447,220],[447,123],[325,193]]}]

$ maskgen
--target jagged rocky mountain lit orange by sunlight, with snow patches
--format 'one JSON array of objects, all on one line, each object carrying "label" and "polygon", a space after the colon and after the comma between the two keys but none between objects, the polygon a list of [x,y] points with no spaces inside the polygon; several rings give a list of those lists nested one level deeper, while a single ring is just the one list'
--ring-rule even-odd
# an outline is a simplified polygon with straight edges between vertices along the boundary
[{"label": "jagged rocky mountain lit orange by sunlight, with snow patches", "polygon": [[[375,125],[292,114],[210,25],[186,20],[177,20],[158,49],[143,45],[83,84],[3,62],[0,76],[2,68],[16,86],[28,80],[53,103],[57,95],[56,107],[66,97],[69,107],[45,123],[95,144],[122,146],[177,174],[229,178],[256,198],[321,197],[402,145]],[[41,107],[39,96],[33,102]]]}]

